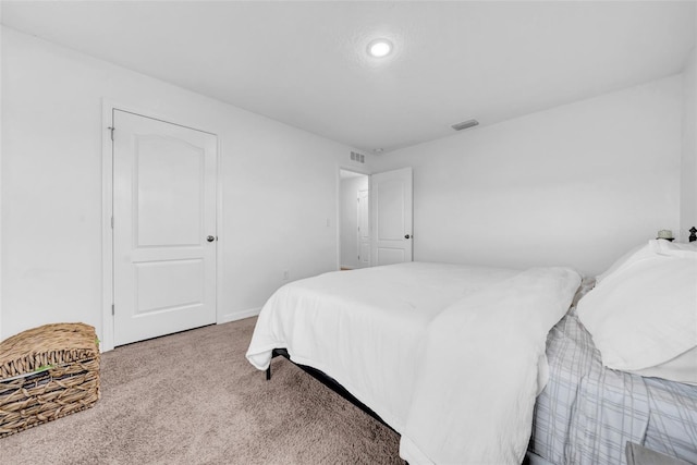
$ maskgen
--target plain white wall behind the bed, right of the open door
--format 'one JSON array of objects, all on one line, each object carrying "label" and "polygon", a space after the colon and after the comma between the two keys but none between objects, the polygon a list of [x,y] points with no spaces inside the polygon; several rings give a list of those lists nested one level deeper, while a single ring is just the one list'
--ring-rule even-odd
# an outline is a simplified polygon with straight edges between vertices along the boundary
[{"label": "plain white wall behind the bed, right of the open door", "polygon": [[376,157],[414,167],[416,260],[595,274],[678,229],[682,76]]}]

